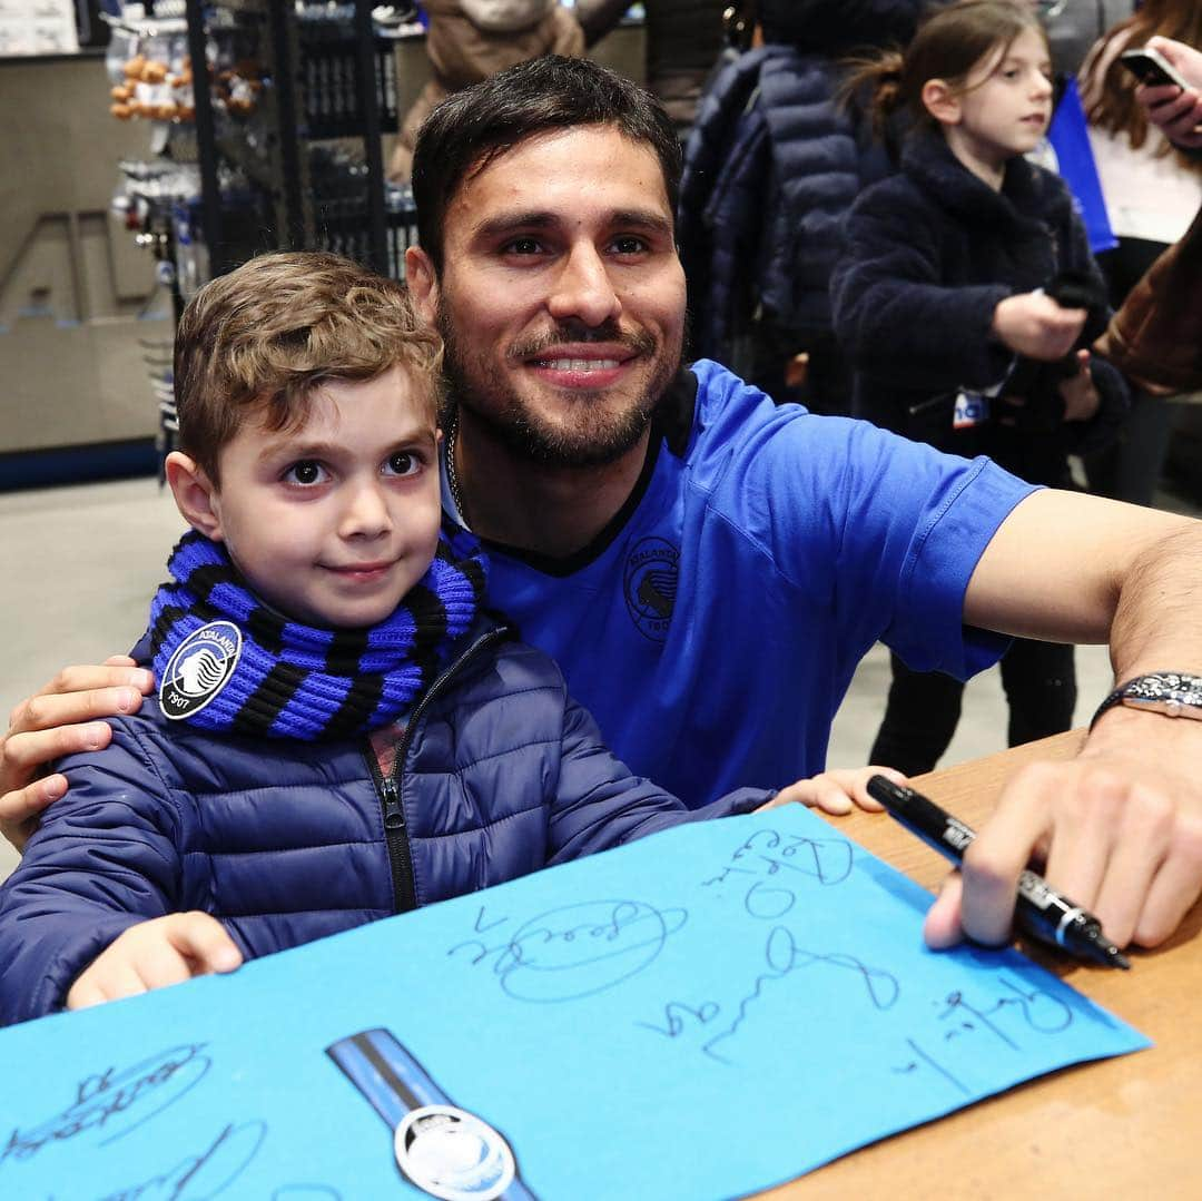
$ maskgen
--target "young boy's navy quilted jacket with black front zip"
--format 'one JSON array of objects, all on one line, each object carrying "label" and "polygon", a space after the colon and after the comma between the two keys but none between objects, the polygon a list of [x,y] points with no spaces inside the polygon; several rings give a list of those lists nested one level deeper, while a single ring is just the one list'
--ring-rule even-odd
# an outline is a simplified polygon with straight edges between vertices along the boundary
[{"label": "young boy's navy quilted jacket with black front zip", "polygon": [[60,1007],[148,918],[213,914],[252,958],[772,796],[690,811],[614,759],[542,652],[505,628],[463,647],[389,780],[367,739],[218,737],[154,698],[65,760],[71,789],[0,890],[0,1021]]}]

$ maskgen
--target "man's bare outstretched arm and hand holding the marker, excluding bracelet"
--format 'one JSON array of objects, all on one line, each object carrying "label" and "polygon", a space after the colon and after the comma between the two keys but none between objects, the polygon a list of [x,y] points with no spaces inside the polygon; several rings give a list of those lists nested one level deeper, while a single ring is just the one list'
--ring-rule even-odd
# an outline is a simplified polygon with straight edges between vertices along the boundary
[{"label": "man's bare outstretched arm and hand holding the marker, excluding bracelet", "polygon": [[[1202,523],[1046,489],[1019,503],[977,563],[968,625],[1103,642],[1115,678],[1202,670]],[[1070,763],[1019,772],[930,911],[927,938],[1007,937],[1031,861],[1124,946],[1167,939],[1202,892],[1202,721],[1115,707]],[[962,916],[963,909],[963,916]]]}]

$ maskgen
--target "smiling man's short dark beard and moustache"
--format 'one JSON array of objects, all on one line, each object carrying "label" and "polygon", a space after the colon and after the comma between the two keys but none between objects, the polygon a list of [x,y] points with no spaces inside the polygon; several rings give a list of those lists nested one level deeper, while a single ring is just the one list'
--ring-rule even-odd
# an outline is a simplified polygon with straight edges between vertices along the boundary
[{"label": "smiling man's short dark beard and moustache", "polygon": [[[442,370],[451,404],[470,412],[516,458],[543,466],[605,466],[620,459],[643,436],[683,362],[683,347],[676,355],[665,353],[643,392],[620,412],[591,405],[584,393],[575,400],[570,423],[552,426],[540,417],[534,402],[520,397],[506,382],[492,380],[488,364],[465,353],[450,314],[441,304],[438,326],[446,345]],[[510,357],[529,359],[557,345],[585,341],[621,343],[647,356],[656,350],[650,334],[623,333],[617,322],[593,329],[564,322],[536,345],[514,347]]]}]

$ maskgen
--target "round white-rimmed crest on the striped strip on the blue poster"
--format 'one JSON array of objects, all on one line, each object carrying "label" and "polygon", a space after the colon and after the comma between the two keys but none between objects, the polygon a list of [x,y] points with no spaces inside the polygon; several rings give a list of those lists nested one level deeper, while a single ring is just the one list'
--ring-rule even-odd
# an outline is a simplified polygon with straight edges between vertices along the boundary
[{"label": "round white-rimmed crest on the striped strip on the blue poster", "polygon": [[494,1201],[517,1175],[501,1135],[453,1105],[410,1110],[397,1126],[394,1146],[405,1176],[442,1201]]}]

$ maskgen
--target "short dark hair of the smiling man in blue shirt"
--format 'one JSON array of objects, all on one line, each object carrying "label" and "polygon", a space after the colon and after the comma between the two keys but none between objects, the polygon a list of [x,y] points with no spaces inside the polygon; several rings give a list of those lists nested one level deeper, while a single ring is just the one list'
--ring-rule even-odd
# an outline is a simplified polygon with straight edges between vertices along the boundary
[{"label": "short dark hair of the smiling man in blue shirt", "polygon": [[417,237],[442,270],[442,222],[469,174],[520,142],[553,130],[611,125],[660,160],[673,214],[680,142],[672,119],[643,88],[588,59],[546,55],[458,91],[422,124],[413,150]]}]

